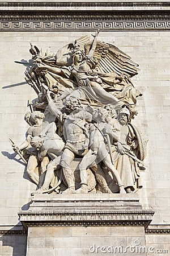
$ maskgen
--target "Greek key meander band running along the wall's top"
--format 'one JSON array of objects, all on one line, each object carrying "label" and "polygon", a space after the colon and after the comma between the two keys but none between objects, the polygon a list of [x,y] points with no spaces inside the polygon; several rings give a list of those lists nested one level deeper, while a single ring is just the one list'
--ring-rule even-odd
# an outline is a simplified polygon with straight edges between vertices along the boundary
[{"label": "Greek key meander band running along the wall's top", "polygon": [[0,22],[1,31],[19,30],[169,30],[170,21],[6,21]]}]

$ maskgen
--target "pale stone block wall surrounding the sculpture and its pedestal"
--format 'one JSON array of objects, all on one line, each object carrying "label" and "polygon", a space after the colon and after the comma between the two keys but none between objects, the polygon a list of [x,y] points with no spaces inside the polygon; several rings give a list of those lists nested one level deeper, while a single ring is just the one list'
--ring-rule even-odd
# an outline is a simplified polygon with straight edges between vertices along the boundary
[{"label": "pale stone block wall surrounding the sculpture and its pedestal", "polygon": [[[95,2],[91,7],[87,5],[87,2],[85,3],[82,7],[84,10],[86,8],[91,10],[94,8],[96,10]],[[74,8],[76,4],[73,6]],[[70,18],[72,20],[65,21],[66,13],[63,12],[63,18],[61,19],[61,16],[58,16],[57,22],[56,16],[51,18],[48,16],[52,15],[50,8],[54,9],[54,2],[53,5],[51,4],[48,7],[49,13],[46,20],[44,20],[44,13],[41,14],[40,12],[45,3],[41,3],[42,6],[37,5],[39,6],[39,13],[35,13],[35,19],[32,19],[32,16],[26,17],[25,13],[22,12],[20,14],[23,15],[22,18],[16,15],[16,9],[23,8],[21,3],[19,5],[15,2],[15,5],[11,5],[11,14],[5,2],[0,5],[2,13],[2,51],[0,60],[1,255],[24,255],[27,232],[23,230],[22,224],[19,222],[18,211],[20,209],[28,209],[31,201],[31,192],[36,189],[36,185],[28,179],[24,166],[19,163],[19,160],[18,162],[14,160],[14,152],[8,142],[8,138],[14,139],[16,144],[24,140],[24,133],[27,130],[24,114],[29,110],[27,106],[28,100],[31,101],[36,97],[36,94],[24,81],[24,68],[16,65],[14,61],[21,61],[23,58],[25,60],[31,59],[31,55],[28,52],[29,42],[33,42],[44,50],[48,49],[49,52],[53,53],[63,44],[75,38],[86,34],[91,35],[96,28],[101,29],[99,35],[101,40],[112,43],[128,53],[134,61],[139,63],[141,68],[139,75],[133,79],[137,89],[143,93],[142,98],[138,100],[137,110],[139,114],[135,121],[148,137],[147,158],[145,161],[148,167],[142,172],[143,189],[137,193],[142,207],[155,211],[153,221],[146,230],[146,244],[155,246],[156,249],[170,251],[167,240],[170,207],[169,6],[168,2],[163,2],[162,6],[160,6],[160,3],[156,6],[154,1],[150,5],[147,2],[140,4],[137,1],[136,5],[127,2],[127,5],[124,3],[124,6],[122,4],[121,6],[117,5],[117,8],[124,9],[124,12],[121,11],[117,14],[112,11],[108,14],[109,8],[115,8],[114,4],[116,5],[114,1],[110,6],[105,3],[106,13],[101,13],[101,16],[96,19],[94,18],[95,10],[94,13],[88,14],[87,20],[84,20],[85,18],[82,19],[81,14],[76,16],[75,19],[77,14],[72,13]],[[35,8],[32,5],[33,2],[25,6],[25,11],[28,7],[31,10]],[[67,4],[68,9],[69,7]],[[97,8],[101,7],[104,8],[103,1],[97,6]],[[162,11],[160,11],[160,7]],[[15,9],[15,12],[12,11],[12,8]],[[56,5],[57,8],[58,6]],[[63,4],[59,8],[64,9],[66,7]],[[127,8],[129,9],[127,10]],[[141,9],[140,13],[137,14],[134,11],[135,9]],[[149,11],[154,9],[154,11],[149,15],[146,9]],[[27,15],[29,15],[28,11]],[[107,20],[105,20],[106,17]],[[84,234],[84,229],[81,232]],[[116,231],[114,230],[114,232]],[[140,229],[136,230],[136,232],[136,234],[139,234]],[[164,243],[163,246],[162,242]]]}]

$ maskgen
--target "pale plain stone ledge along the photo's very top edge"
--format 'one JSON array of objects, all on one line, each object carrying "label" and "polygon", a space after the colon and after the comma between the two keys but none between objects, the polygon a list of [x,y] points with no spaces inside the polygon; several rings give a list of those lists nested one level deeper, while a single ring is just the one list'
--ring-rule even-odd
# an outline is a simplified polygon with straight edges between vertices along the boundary
[{"label": "pale plain stone ledge along the photo's very top edge", "polygon": [[169,2],[0,2],[7,11],[72,11],[72,10],[168,10]]}]

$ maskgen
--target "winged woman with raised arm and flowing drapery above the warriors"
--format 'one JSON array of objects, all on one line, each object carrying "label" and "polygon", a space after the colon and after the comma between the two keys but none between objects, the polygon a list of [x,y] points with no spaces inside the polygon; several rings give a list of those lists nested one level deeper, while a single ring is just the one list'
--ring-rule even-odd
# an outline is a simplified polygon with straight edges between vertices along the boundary
[{"label": "winged woman with raised arm and flowing drapery above the warriors", "polygon": [[[48,86],[56,97],[78,97],[94,107],[123,104],[135,107],[142,94],[134,88],[130,77],[138,74],[138,64],[112,44],[82,36],[58,49],[55,56],[37,56],[38,67],[25,72],[25,79],[37,94]],[[42,103],[42,102],[40,102]],[[41,104],[42,105],[42,104]]]}]

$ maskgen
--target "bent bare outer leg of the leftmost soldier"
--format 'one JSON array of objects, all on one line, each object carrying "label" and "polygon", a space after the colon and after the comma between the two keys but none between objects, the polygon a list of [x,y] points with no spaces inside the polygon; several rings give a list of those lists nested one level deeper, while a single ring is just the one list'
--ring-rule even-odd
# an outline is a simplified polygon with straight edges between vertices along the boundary
[{"label": "bent bare outer leg of the leftmost soldier", "polygon": [[36,174],[35,169],[39,165],[38,156],[31,155],[27,163],[27,174],[29,178],[36,184],[39,185],[39,175]]}]

